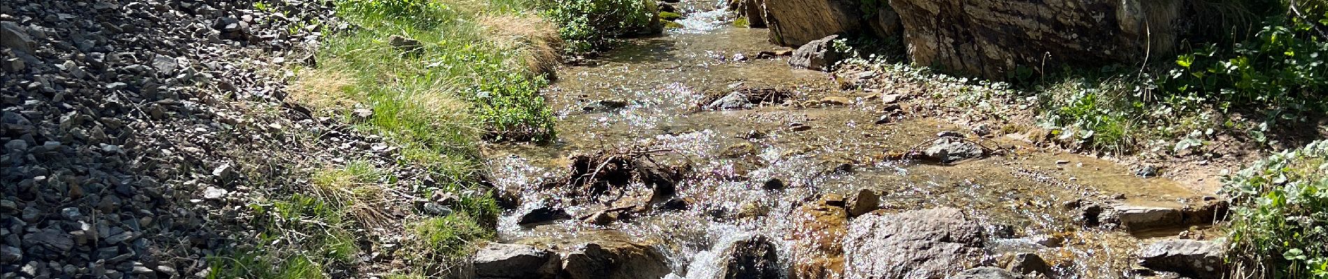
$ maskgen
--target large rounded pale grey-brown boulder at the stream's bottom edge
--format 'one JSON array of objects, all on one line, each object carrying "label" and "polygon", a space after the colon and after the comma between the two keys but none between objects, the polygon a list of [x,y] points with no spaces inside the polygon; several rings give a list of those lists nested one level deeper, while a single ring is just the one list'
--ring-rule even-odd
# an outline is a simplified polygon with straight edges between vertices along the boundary
[{"label": "large rounded pale grey-brown boulder at the stream's bottom edge", "polygon": [[939,208],[854,218],[843,238],[845,278],[946,278],[981,258],[981,226]]}]

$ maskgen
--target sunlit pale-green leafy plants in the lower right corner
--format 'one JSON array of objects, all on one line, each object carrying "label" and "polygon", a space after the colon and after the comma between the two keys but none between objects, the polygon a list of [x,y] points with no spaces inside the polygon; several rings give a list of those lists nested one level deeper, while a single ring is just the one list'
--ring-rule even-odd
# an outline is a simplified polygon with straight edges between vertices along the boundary
[{"label": "sunlit pale-green leafy plants in the lower right corner", "polygon": [[1328,278],[1328,141],[1223,179],[1232,198],[1232,278]]}]

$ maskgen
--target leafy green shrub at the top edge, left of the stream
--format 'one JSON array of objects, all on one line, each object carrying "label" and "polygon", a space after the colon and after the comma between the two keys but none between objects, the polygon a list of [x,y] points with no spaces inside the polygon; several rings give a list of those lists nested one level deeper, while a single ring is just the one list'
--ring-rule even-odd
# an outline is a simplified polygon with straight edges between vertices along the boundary
[{"label": "leafy green shrub at the top edge, left of the stream", "polygon": [[652,0],[547,0],[543,15],[558,22],[567,52],[591,53],[615,38],[663,29]]}]

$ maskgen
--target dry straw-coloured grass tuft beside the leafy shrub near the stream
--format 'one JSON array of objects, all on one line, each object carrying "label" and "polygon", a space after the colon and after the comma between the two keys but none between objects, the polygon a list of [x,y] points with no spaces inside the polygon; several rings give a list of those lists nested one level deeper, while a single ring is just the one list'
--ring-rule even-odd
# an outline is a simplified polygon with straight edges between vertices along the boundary
[{"label": "dry straw-coloured grass tuft beside the leafy shrub near the stream", "polygon": [[501,15],[482,16],[479,25],[499,48],[521,52],[521,61],[530,74],[554,77],[562,60],[563,40],[552,22],[530,15]]}]

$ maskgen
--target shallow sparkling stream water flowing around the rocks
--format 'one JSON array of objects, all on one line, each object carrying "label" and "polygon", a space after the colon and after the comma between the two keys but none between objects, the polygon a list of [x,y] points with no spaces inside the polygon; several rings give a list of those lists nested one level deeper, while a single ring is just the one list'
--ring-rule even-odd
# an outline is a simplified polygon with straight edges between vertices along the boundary
[{"label": "shallow sparkling stream water flowing around the rocks", "polygon": [[[710,3],[683,3],[683,29],[637,38],[592,65],[567,66],[544,90],[559,116],[559,140],[546,145],[486,148],[494,182],[521,197],[499,223],[499,241],[558,238],[583,230],[616,229],[635,238],[659,239],[671,258],[671,278],[717,278],[722,251],[737,239],[764,234],[785,239],[797,226],[798,206],[830,194],[858,189],[883,192],[886,212],[938,206],[963,209],[988,230],[1016,227],[1021,238],[993,239],[989,258],[1011,251],[1037,251],[1061,278],[1123,278],[1129,257],[1142,242],[1120,231],[1084,229],[1072,222],[1062,202],[1125,193],[1131,204],[1171,205],[1198,196],[1175,182],[1131,176],[1125,167],[1092,157],[1049,153],[1015,145],[1004,156],[957,165],[910,164],[888,160],[940,131],[963,127],[936,119],[906,119],[874,124],[883,104],[869,94],[841,91],[826,74],[790,70],[786,60],[756,60],[777,48],[766,29],[730,26],[730,15]],[[734,60],[734,54],[750,60]],[[752,110],[697,110],[706,94],[737,83],[791,89],[793,102],[843,97],[847,106],[762,106]],[[614,110],[598,100],[622,100]],[[810,130],[791,130],[790,126]],[[764,136],[749,136],[752,134]],[[752,138],[752,139],[749,139]],[[653,210],[629,221],[598,226],[568,219],[522,227],[517,219],[542,206],[564,208],[583,217],[604,206],[568,202],[539,182],[564,175],[568,156],[606,149],[647,148],[661,160],[687,161],[693,172],[677,185],[676,197],[691,201],[684,210]],[[1066,160],[1069,164],[1061,164]],[[1064,169],[1058,169],[1064,168]],[[782,190],[762,184],[778,179]],[[644,188],[643,185],[640,188]],[[1064,247],[1035,245],[1062,235]],[[780,241],[788,263],[791,241]]]}]

